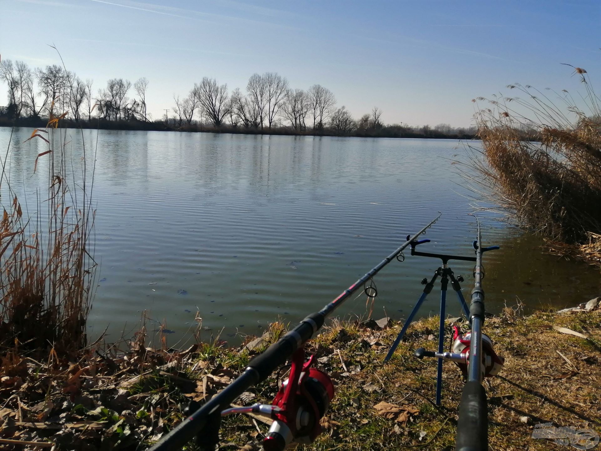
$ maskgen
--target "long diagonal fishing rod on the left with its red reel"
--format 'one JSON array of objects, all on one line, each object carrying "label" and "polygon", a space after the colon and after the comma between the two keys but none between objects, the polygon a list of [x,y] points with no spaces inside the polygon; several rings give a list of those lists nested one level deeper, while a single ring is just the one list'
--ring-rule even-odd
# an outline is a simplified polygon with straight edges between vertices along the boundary
[{"label": "long diagonal fishing rod on the left with its red reel", "polygon": [[[293,330],[285,334],[276,343],[269,346],[262,354],[254,357],[248,367],[224,390],[213,396],[202,407],[191,405],[188,418],[175,426],[169,434],[154,444],[148,451],[167,451],[181,449],[186,443],[197,437],[198,445],[205,450],[213,451],[219,441],[219,424],[223,414],[240,413],[240,408],[230,409],[230,404],[248,388],[263,382],[288,358],[292,358],[290,376],[284,381],[273,405],[255,404],[243,411],[251,411],[273,420],[269,434],[263,441],[267,451],[281,451],[294,441],[310,443],[321,432],[319,420],[325,414],[329,402],[334,397],[334,385],[328,375],[311,368],[313,357],[306,363],[304,345],[317,333],[326,316],[340,307],[346,299],[363,284],[376,275],[392,259],[402,262],[403,250],[419,235],[426,233],[441,217],[430,221],[415,235],[409,237],[403,245],[392,252],[382,262],[374,266],[363,277],[344,290],[322,310],[312,313]],[[365,288],[367,291],[367,287]],[[375,289],[371,287],[371,295]],[[370,293],[368,293],[370,294]]]}]

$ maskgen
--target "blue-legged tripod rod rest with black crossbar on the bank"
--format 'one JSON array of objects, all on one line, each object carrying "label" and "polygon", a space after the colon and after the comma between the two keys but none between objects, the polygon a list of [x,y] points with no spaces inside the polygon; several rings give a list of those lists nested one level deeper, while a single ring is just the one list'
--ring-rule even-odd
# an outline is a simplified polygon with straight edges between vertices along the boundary
[{"label": "blue-legged tripod rod rest with black crossbar on the bank", "polygon": [[[407,240],[409,240],[409,236],[407,236]],[[428,281],[427,278],[424,278],[421,281],[422,284],[426,285],[424,287],[424,292],[421,294],[421,296],[419,296],[419,299],[418,299],[417,303],[415,304],[415,307],[413,307],[413,310],[411,311],[409,316],[407,316],[407,321],[405,321],[403,328],[401,329],[400,333],[398,333],[397,339],[394,340],[394,343],[392,343],[392,347],[390,348],[390,351],[388,351],[388,355],[386,355],[386,358],[384,359],[385,362],[388,361],[392,357],[392,354],[394,354],[395,349],[397,349],[398,343],[400,343],[401,340],[403,340],[403,337],[407,331],[407,328],[409,328],[409,325],[413,321],[413,317],[419,310],[419,307],[421,307],[421,304],[423,304],[423,302],[426,300],[426,297],[430,294],[430,292],[432,292],[432,288],[434,287],[434,284],[438,277],[441,278],[441,308],[440,308],[441,320],[440,320],[439,330],[438,330],[438,352],[439,353],[442,353],[444,351],[445,308],[447,305],[447,286],[448,286],[449,280],[451,280],[451,286],[453,287],[453,290],[455,290],[455,292],[457,293],[457,298],[459,299],[459,303],[461,304],[463,313],[465,314],[466,318],[469,318],[468,305],[465,303],[465,298],[463,298],[463,294],[461,292],[461,287],[459,285],[459,282],[463,282],[463,277],[458,276],[457,278],[455,278],[453,271],[451,271],[451,268],[448,266],[448,261],[449,260],[463,260],[465,262],[475,262],[476,258],[475,257],[454,256],[454,255],[447,255],[447,254],[433,254],[433,253],[426,253],[426,252],[418,252],[415,250],[415,247],[417,245],[423,244],[423,243],[428,243],[428,242],[430,242],[429,239],[423,239],[420,241],[417,241],[414,239],[410,243],[411,244],[411,255],[441,259],[442,266],[441,266],[441,268],[436,269],[436,271],[434,272],[434,275],[432,276],[430,281]],[[441,404],[441,394],[442,394],[442,358],[439,358],[438,359],[438,372],[436,373],[436,405]]]}]

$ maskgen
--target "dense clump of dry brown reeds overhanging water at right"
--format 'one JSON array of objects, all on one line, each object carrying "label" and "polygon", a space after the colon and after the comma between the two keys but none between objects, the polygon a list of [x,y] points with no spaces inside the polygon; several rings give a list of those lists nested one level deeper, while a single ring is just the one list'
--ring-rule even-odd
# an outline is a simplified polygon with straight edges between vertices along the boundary
[{"label": "dense clump of dry brown reeds overhanging water at right", "polygon": [[586,70],[573,69],[578,101],[519,84],[508,86],[517,96],[474,99],[482,146],[469,146],[468,178],[520,225],[584,244],[601,232],[601,109]]}]

